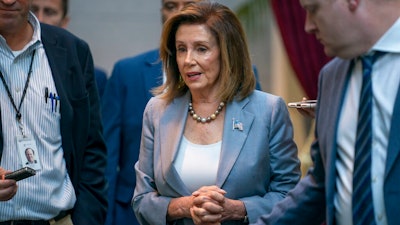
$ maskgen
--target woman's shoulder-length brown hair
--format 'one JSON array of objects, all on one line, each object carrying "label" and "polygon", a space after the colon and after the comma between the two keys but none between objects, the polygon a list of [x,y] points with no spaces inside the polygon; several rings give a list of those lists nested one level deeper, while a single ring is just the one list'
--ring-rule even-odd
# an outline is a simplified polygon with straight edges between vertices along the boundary
[{"label": "woman's shoulder-length brown hair", "polygon": [[204,24],[216,38],[221,52],[221,72],[218,79],[224,85],[218,93],[221,101],[229,102],[234,98],[241,100],[250,95],[255,89],[256,80],[243,27],[228,7],[209,1],[185,6],[164,24],[160,57],[167,81],[155,88],[153,94],[162,94],[170,102],[188,91],[188,87],[179,81],[180,73],[176,61],[175,36],[182,24]]}]

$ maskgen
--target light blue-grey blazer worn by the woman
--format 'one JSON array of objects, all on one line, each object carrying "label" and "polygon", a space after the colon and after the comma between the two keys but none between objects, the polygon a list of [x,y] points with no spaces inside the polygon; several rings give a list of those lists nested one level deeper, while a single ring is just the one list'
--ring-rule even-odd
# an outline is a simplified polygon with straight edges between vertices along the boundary
[{"label": "light blue-grey blazer worn by the woman", "polygon": [[[143,116],[132,206],[142,225],[166,224],[172,198],[190,196],[173,166],[188,117],[190,94],[167,104],[152,98]],[[300,179],[293,129],[282,98],[254,91],[228,103],[215,185],[244,202],[250,221],[270,212]],[[243,130],[233,129],[232,120]],[[191,219],[175,224],[193,224]],[[242,224],[226,221],[223,224]]]}]

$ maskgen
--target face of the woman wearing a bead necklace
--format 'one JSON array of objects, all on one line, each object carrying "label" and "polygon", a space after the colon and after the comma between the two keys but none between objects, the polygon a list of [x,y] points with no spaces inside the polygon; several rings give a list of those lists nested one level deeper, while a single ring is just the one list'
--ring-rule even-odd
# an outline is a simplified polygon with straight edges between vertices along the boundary
[{"label": "face of the woman wearing a bead necklace", "polygon": [[220,70],[220,48],[206,25],[183,24],[176,32],[176,61],[192,92],[216,93]]}]

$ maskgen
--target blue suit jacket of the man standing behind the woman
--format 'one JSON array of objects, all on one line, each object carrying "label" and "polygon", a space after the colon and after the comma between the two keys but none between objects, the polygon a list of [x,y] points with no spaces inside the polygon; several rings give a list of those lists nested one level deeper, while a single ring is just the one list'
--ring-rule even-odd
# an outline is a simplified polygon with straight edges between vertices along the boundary
[{"label": "blue suit jacket of the man standing behind the woman", "polygon": [[[131,208],[136,184],[133,165],[139,156],[143,111],[152,97],[150,90],[163,82],[161,65],[158,49],[122,59],[107,82],[102,114],[108,149],[108,224],[115,224],[115,215],[121,213],[115,211],[116,201]],[[130,212],[130,224],[135,224],[134,213]]]}]

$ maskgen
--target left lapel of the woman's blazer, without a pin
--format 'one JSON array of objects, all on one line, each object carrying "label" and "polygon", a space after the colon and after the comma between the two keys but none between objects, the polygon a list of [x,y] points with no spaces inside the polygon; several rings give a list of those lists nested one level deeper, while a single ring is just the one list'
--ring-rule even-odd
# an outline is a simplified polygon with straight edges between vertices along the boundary
[{"label": "left lapel of the woman's blazer, without a pin", "polygon": [[190,195],[173,165],[188,116],[189,92],[171,102],[160,120],[161,167],[165,181],[180,195]]}]

